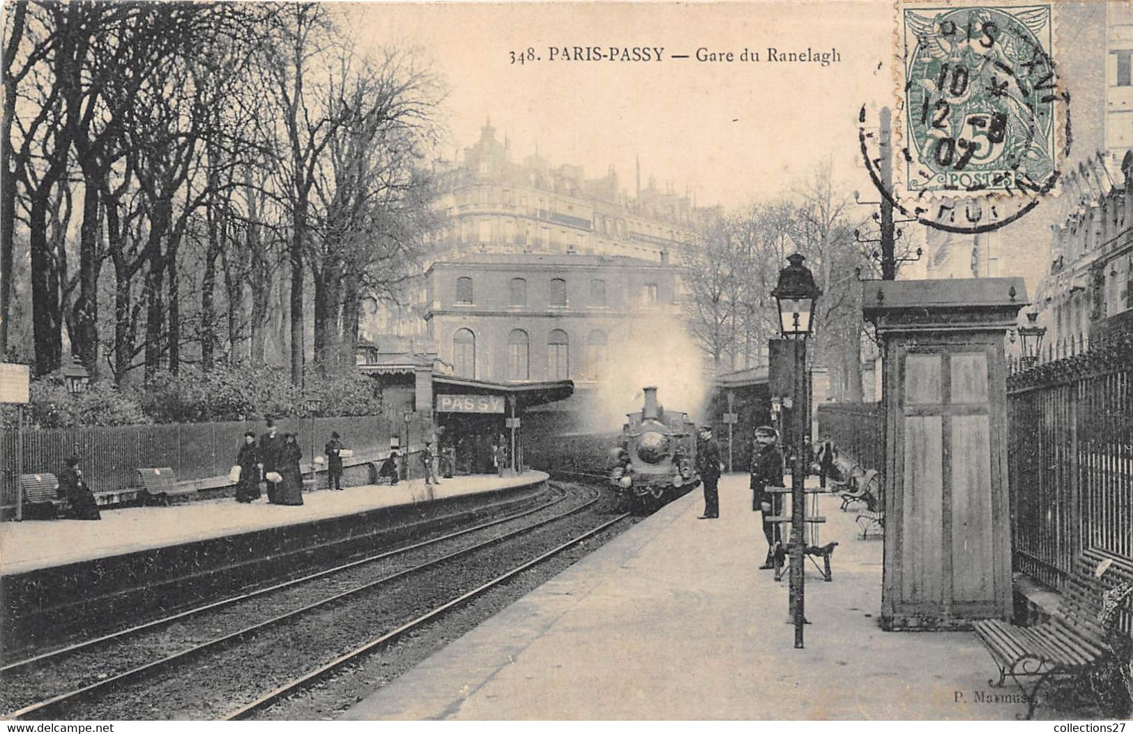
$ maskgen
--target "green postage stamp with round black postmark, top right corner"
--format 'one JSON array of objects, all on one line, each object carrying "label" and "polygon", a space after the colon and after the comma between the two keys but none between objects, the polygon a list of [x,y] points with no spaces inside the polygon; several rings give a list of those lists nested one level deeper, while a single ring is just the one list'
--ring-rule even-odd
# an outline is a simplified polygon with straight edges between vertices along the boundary
[{"label": "green postage stamp with round black postmark, top right corner", "polygon": [[901,2],[903,155],[911,196],[1050,191],[1068,143],[1051,3]]}]

